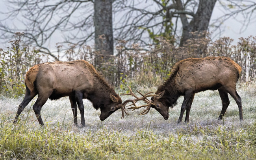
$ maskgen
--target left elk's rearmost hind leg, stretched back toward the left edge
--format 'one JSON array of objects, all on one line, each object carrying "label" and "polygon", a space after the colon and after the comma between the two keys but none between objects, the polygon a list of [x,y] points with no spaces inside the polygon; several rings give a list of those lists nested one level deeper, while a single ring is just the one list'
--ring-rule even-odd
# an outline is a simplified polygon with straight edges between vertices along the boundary
[{"label": "left elk's rearmost hind leg, stretched back toward the left edge", "polygon": [[28,87],[26,86],[26,93],[24,96],[23,101],[20,103],[15,119],[13,121],[13,123],[16,123],[21,112],[24,110],[24,108],[28,105],[28,103],[30,103],[30,101],[37,95],[37,92],[35,90],[33,90],[32,92],[30,91],[30,89],[28,89]]}]

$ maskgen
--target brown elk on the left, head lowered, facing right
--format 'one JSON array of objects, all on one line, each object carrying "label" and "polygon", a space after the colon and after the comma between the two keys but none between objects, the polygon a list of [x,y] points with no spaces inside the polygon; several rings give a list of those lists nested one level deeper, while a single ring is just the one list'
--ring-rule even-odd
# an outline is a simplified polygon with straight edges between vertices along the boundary
[{"label": "brown elk on the left, head lowered, facing right", "polygon": [[89,99],[95,109],[100,109],[102,121],[120,108],[122,117],[124,112],[128,114],[125,105],[121,104],[122,99],[115,93],[113,87],[91,64],[83,60],[37,64],[26,73],[25,85],[25,97],[19,105],[13,123],[17,122],[22,110],[37,94],[38,98],[33,110],[40,125],[44,125],[40,111],[48,98],[54,100],[69,96],[76,125],[78,105],[81,123],[85,126],[83,98]]}]

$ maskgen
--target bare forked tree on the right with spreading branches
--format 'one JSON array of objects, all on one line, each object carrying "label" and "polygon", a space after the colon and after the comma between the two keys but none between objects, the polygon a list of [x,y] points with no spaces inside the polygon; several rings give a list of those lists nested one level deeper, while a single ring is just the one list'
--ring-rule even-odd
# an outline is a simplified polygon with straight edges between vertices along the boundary
[{"label": "bare forked tree on the right with spreading branches", "polygon": [[[167,38],[175,37],[176,43],[182,46],[191,38],[191,32],[208,30],[216,2],[217,0],[119,0],[113,4],[113,8],[115,12],[124,13],[119,24],[114,27],[115,38],[139,42],[147,46],[149,41],[145,37],[154,40],[154,37],[160,35]],[[214,20],[211,26],[216,29],[224,20],[238,13],[247,15],[245,21],[248,22],[251,18],[248,13],[252,14],[256,7],[256,2],[250,0],[247,0],[247,5],[240,4],[239,0],[219,0],[219,2],[225,9],[230,5],[236,6],[237,9],[233,11],[234,7],[229,8],[229,12],[223,14],[221,20]],[[180,33],[182,36],[179,39]]]}]

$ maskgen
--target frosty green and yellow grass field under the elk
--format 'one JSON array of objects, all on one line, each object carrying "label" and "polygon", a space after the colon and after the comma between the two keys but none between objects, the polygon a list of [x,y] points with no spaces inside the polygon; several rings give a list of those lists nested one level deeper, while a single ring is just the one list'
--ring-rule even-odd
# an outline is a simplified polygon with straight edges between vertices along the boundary
[{"label": "frosty green and yellow grass field under the elk", "polygon": [[[156,88],[151,88],[156,90]],[[139,88],[139,90],[143,90]],[[145,91],[147,92],[147,90]],[[195,95],[189,123],[177,124],[183,97],[164,120],[154,109],[144,116],[130,112],[121,119],[121,110],[105,121],[100,110],[84,100],[85,127],[73,125],[67,97],[48,100],[41,110],[45,127],[33,112],[35,99],[12,121],[18,99],[0,97],[0,159],[255,159],[256,83],[239,84],[244,121],[230,97],[223,121],[221,98],[217,91]],[[123,97],[123,99],[128,97]],[[184,120],[183,120],[184,121]]]}]

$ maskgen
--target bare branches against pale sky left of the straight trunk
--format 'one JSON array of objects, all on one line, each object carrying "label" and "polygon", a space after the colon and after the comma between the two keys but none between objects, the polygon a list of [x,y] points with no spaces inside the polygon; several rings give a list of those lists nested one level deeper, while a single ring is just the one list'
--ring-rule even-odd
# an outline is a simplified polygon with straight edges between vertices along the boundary
[{"label": "bare branches against pale sky left of the straight trunk", "polygon": [[[8,39],[17,31],[24,32],[25,44],[35,44],[41,52],[58,59],[49,48],[52,35],[63,36],[61,44],[83,45],[93,39],[93,0],[9,0],[10,11],[2,13],[25,27],[0,22],[1,38]],[[5,19],[5,20],[6,20]],[[19,22],[19,20],[22,20]],[[12,34],[9,34],[12,33]]]}]

